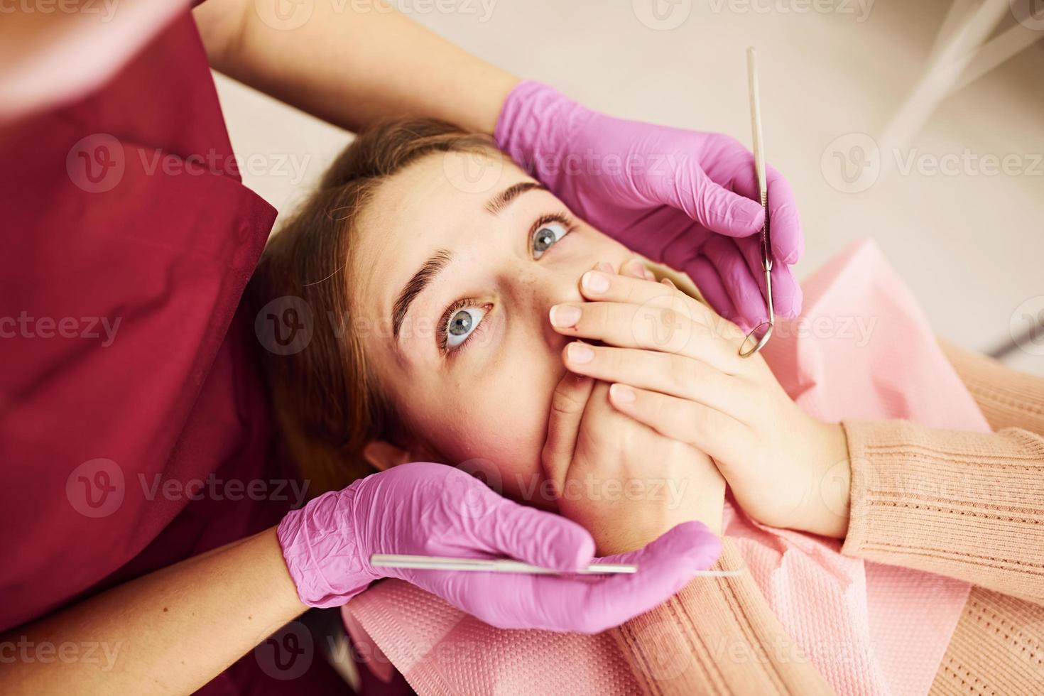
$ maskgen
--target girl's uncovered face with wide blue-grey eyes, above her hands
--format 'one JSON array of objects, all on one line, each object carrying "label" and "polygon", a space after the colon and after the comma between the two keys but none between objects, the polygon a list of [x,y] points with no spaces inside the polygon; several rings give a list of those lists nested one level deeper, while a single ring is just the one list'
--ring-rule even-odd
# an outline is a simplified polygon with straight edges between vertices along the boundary
[{"label": "girl's uncovered face with wide blue-grey eyes, above her hands", "polygon": [[[469,181],[476,161],[483,175]],[[367,456],[483,471],[504,495],[553,506],[540,455],[567,339],[548,311],[630,251],[496,152],[413,163],[378,187],[355,234],[353,330],[409,432],[406,452]]]}]

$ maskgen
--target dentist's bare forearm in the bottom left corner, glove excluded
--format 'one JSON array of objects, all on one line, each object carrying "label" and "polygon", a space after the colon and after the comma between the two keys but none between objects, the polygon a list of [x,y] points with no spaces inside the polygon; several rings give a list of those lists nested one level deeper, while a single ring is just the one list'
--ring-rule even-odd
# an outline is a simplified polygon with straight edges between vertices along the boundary
[{"label": "dentist's bare forearm in the bottom left corner, glove excluded", "polygon": [[306,608],[272,528],[0,634],[0,693],[191,693]]}]

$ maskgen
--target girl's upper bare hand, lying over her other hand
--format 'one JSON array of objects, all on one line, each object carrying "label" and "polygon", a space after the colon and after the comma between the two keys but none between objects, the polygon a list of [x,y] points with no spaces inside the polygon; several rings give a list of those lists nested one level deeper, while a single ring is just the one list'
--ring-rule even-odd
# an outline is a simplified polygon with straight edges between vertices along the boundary
[{"label": "girl's upper bare hand, lying over her other hand", "polygon": [[740,358],[743,331],[637,267],[588,271],[580,291],[589,302],[553,307],[551,323],[601,344],[568,344],[569,370],[610,383],[620,413],[712,457],[754,519],[844,536],[844,431],[802,411],[759,354]]}]

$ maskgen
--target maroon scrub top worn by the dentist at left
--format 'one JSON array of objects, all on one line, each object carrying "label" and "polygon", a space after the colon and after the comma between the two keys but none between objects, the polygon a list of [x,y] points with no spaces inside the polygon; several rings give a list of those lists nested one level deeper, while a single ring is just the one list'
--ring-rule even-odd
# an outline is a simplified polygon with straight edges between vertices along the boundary
[{"label": "maroon scrub top worn by the dentist at left", "polygon": [[[230,159],[191,15],[89,97],[0,128],[0,154],[7,630],[258,532],[295,497],[237,309],[276,211]],[[247,654],[204,692],[350,691],[313,663],[286,681]]]}]

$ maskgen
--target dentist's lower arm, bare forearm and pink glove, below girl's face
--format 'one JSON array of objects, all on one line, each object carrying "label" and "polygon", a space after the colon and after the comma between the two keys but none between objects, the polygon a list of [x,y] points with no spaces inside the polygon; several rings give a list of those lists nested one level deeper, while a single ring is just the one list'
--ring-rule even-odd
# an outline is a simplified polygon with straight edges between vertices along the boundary
[{"label": "dentist's lower arm, bare forearm and pink glove, below girl's face", "polygon": [[[489,624],[597,632],[649,610],[710,565],[701,525],[634,552],[633,575],[590,579],[579,525],[501,498],[444,464],[359,479],[292,510],[276,529],[190,558],[0,635],[0,693],[190,693],[309,606],[340,606],[382,577],[426,590]],[[566,575],[374,568],[374,553],[507,557]],[[10,647],[97,643],[113,662],[10,656]],[[9,663],[9,664],[8,664]]]}]

